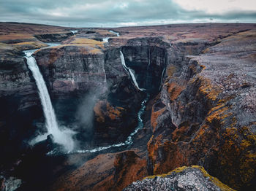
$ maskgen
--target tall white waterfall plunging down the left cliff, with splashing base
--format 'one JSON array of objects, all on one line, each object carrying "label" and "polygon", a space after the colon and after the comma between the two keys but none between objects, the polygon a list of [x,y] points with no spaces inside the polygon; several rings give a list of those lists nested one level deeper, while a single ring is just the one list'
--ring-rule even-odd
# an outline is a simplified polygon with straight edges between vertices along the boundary
[{"label": "tall white waterfall plunging down the left cliff, with splashing base", "polygon": [[34,143],[37,143],[39,141],[47,139],[47,136],[49,134],[53,135],[53,141],[55,141],[57,144],[61,144],[64,146],[64,148],[67,151],[72,151],[75,144],[72,140],[72,130],[60,130],[58,126],[58,122],[56,120],[56,115],[53,109],[53,106],[50,102],[50,96],[48,93],[48,89],[45,85],[45,81],[42,77],[42,74],[39,71],[39,68],[37,66],[37,61],[34,59],[32,54],[35,52],[35,50],[27,50],[24,51],[26,54],[26,61],[29,66],[29,69],[31,70],[33,77],[36,81],[37,88],[39,91],[39,98],[42,104],[42,110],[45,115],[45,126],[48,130],[48,133],[45,133],[44,135],[37,136],[36,139],[34,139]]}]

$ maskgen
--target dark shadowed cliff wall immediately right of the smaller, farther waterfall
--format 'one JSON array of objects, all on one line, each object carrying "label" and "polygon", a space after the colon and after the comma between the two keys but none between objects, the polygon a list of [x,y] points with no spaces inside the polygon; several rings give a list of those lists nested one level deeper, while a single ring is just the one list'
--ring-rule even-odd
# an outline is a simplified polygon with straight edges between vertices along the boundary
[{"label": "dark shadowed cliff wall immediately right of the smaller, farther waterfall", "polygon": [[126,64],[135,71],[140,88],[152,93],[159,90],[165,69],[166,47],[161,37],[129,39],[121,47]]}]

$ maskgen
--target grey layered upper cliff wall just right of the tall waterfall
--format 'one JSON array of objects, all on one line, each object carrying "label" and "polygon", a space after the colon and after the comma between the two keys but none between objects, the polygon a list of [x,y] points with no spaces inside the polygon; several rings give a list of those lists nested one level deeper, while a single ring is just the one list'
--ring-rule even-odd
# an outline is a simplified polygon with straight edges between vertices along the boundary
[{"label": "grey layered upper cliff wall just right of the tall waterfall", "polygon": [[35,52],[35,58],[53,96],[83,93],[104,87],[102,50],[72,44],[60,45]]}]

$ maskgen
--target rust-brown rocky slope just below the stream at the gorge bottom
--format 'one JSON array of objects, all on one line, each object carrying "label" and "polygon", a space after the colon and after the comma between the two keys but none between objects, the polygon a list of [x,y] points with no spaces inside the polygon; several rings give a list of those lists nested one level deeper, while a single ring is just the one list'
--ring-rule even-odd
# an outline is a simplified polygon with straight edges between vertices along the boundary
[{"label": "rust-brown rocky slope just below the stream at the gorge bottom", "polygon": [[146,176],[146,160],[133,151],[98,155],[62,176],[50,190],[122,190]]}]

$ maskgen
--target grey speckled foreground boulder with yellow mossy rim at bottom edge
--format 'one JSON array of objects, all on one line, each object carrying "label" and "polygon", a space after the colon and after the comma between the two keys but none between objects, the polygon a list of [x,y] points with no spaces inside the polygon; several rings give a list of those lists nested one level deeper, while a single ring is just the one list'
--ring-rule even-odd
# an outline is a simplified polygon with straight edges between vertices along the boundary
[{"label": "grey speckled foreground boulder with yellow mossy rim at bottom edge", "polygon": [[173,190],[233,190],[218,179],[210,176],[200,166],[176,168],[168,174],[149,176],[142,181],[133,182],[124,191],[173,191]]}]

